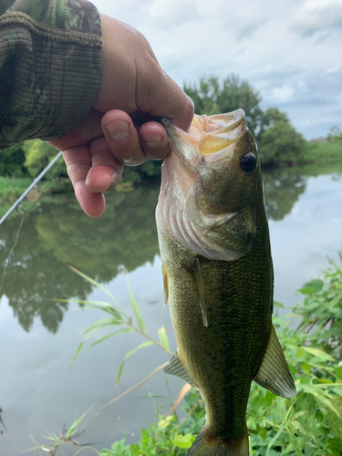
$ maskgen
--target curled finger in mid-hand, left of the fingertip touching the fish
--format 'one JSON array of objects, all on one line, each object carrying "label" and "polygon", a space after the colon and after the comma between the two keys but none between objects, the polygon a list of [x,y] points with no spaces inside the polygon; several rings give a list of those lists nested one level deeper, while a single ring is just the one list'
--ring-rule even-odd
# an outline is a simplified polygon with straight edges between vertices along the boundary
[{"label": "curled finger in mid-hand, left of the fingertip touching the fish", "polygon": [[139,133],[126,112],[110,110],[103,116],[101,126],[110,150],[120,163],[136,166],[147,161]]}]

